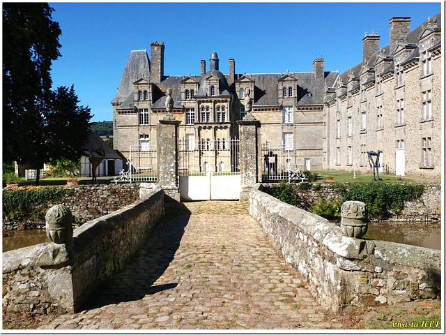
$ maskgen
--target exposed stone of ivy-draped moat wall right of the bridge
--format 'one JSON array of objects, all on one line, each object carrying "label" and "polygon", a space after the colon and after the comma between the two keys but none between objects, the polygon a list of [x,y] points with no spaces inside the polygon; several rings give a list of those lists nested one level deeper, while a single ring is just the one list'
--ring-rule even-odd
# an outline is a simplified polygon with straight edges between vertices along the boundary
[{"label": "exposed stone of ivy-draped moat wall right of the bridge", "polygon": [[[325,198],[329,202],[341,200],[334,184],[312,184],[308,190],[298,189],[298,195],[304,200],[307,208]],[[298,184],[299,186],[300,184]],[[270,193],[279,184],[262,184],[264,190]],[[392,214],[388,220],[394,221],[440,221],[441,220],[441,184],[424,184],[422,197],[415,201],[404,202],[404,209],[398,214]]]}]

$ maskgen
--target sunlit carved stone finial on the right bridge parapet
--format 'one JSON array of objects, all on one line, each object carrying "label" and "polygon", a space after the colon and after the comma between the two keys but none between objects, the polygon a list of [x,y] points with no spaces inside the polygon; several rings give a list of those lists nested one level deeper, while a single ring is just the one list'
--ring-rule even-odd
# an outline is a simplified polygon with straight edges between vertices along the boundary
[{"label": "sunlit carved stone finial on the right bridge parapet", "polygon": [[360,239],[367,232],[367,207],[364,202],[346,201],[341,206],[341,229],[349,237]]}]

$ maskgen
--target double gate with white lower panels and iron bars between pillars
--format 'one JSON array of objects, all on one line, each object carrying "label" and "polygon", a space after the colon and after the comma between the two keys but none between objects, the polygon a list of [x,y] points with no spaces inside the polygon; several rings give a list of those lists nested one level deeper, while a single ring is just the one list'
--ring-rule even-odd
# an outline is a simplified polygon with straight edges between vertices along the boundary
[{"label": "double gate with white lower panels and iron bars between pillars", "polygon": [[239,140],[180,140],[178,151],[183,200],[240,197]]}]

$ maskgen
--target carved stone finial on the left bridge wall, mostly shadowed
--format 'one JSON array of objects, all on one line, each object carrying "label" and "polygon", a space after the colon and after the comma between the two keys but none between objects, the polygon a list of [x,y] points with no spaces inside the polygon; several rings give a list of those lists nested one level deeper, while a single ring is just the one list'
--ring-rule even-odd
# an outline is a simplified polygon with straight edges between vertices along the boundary
[{"label": "carved stone finial on the left bridge wall, mostly shadowed", "polygon": [[72,237],[72,214],[68,207],[56,204],[45,215],[47,237],[54,243],[62,244]]}]

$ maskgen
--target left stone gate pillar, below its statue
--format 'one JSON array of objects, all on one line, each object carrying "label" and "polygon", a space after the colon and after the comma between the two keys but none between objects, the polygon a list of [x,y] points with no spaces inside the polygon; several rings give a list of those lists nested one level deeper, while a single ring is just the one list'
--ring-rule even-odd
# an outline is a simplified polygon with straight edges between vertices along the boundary
[{"label": "left stone gate pillar, below its statue", "polygon": [[178,125],[181,120],[164,117],[159,120],[157,135],[157,170],[158,184],[167,195],[167,199],[180,201],[178,188]]}]

